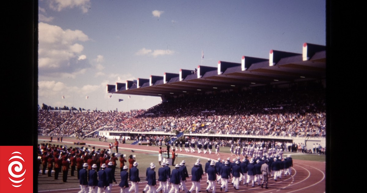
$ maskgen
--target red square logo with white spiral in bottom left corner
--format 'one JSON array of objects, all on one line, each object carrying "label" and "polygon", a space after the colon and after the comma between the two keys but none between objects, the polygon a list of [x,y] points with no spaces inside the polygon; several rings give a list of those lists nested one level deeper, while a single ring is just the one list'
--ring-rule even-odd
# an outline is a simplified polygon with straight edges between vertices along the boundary
[{"label": "red square logo with white spiral in bottom left corner", "polygon": [[0,193],[33,192],[33,146],[0,146]]}]

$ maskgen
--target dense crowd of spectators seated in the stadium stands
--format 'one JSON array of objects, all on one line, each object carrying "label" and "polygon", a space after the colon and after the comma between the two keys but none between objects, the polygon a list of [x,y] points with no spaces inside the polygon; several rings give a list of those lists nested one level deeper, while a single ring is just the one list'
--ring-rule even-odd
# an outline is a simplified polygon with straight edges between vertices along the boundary
[{"label": "dense crowd of spectators seated in the stadium stands", "polygon": [[109,131],[165,131],[266,136],[326,136],[324,89],[226,92],[168,99],[129,112],[39,111],[39,132],[84,135]]}]

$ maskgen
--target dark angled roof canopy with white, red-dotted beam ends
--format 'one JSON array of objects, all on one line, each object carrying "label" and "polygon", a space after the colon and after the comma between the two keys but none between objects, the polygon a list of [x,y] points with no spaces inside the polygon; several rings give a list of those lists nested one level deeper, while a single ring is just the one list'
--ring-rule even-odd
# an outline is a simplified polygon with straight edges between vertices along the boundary
[{"label": "dark angled roof canopy with white, red-dotted beam ends", "polygon": [[217,67],[199,65],[126,83],[107,85],[107,93],[178,96],[234,87],[254,87],[324,79],[326,46],[304,43],[302,53],[270,50],[269,59],[242,56],[241,63],[219,61]]}]

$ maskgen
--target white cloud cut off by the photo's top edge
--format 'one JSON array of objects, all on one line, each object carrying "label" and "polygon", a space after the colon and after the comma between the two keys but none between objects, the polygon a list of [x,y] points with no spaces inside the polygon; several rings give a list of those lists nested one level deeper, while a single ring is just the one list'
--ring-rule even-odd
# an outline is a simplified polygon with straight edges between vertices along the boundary
[{"label": "white cloud cut off by the photo's top edge", "polygon": [[65,8],[80,8],[83,13],[90,9],[90,0],[51,0],[50,8],[55,11],[61,11]]}]

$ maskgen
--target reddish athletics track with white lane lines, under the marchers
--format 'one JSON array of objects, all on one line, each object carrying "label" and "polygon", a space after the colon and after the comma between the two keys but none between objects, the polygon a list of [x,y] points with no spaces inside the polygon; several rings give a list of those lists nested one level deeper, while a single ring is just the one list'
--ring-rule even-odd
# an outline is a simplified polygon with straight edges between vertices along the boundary
[{"label": "reddish athletics track with white lane lines, under the marchers", "polygon": [[[43,137],[39,136],[39,140],[45,140],[48,142],[49,137]],[[81,140],[73,140],[73,139],[67,139],[63,140],[63,142],[77,142]],[[86,145],[90,146],[98,146],[98,147],[107,147],[109,145],[109,142],[90,142],[86,141]],[[146,152],[146,151],[157,151],[156,146],[139,146],[139,145],[130,145],[130,144],[120,144],[119,149],[127,149],[127,150],[135,150],[139,152]],[[211,154],[197,154],[197,153],[186,153],[184,151],[180,152],[179,154],[185,154],[192,157],[198,157],[201,159],[218,159],[218,155],[215,155],[212,152]],[[235,156],[230,156],[230,153],[220,153],[220,158],[225,159],[230,157],[231,159],[235,158]],[[203,165],[205,165],[206,161],[201,161]],[[255,185],[255,187],[251,187],[251,183],[248,187],[244,185],[240,185],[240,190],[234,190],[233,186],[228,184],[228,193],[233,192],[255,192],[255,193],[290,193],[290,192],[312,192],[312,193],[323,193],[325,192],[326,188],[326,175],[325,175],[325,162],[317,162],[317,161],[304,161],[304,160],[295,160],[293,159],[293,168],[292,168],[292,176],[284,177],[282,176],[281,179],[279,179],[277,182],[273,180],[272,177],[269,178],[269,189],[262,189],[261,186]],[[120,187],[113,184],[112,186],[112,192],[118,193],[120,192]],[[243,183],[243,182],[242,182]],[[241,184],[242,184],[241,183]],[[201,192],[205,193],[205,189],[207,187],[206,184],[206,175],[203,176],[203,180],[201,181]],[[141,193],[146,185],[146,182],[140,182],[139,183],[139,193]],[[157,187],[159,186],[159,183],[157,183]],[[186,182],[186,187],[190,189],[192,186],[191,179],[188,179]],[[171,187],[171,186],[170,186]],[[42,190],[39,192],[51,192],[51,193],[58,193],[62,191],[63,193],[77,193],[80,191],[80,188],[73,188],[73,189],[59,189],[59,190]],[[180,192],[183,192],[182,190]],[[215,192],[221,192],[220,186],[217,184]],[[224,189],[223,189],[224,192]]]}]

